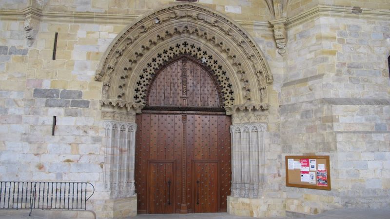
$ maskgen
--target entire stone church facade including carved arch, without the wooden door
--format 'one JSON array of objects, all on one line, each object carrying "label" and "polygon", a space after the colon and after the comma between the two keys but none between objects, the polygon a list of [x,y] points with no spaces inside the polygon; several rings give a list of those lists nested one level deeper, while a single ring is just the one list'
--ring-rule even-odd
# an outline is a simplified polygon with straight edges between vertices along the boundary
[{"label": "entire stone church facade including carved arch, without the wooden door", "polygon": [[[180,4],[190,6],[185,15],[178,10],[176,24],[166,21],[166,41],[156,40],[162,35],[155,25],[140,41],[126,38],[138,47],[118,50],[127,43],[120,36],[135,36],[136,21],[147,24],[142,16]],[[190,18],[189,11],[207,16]],[[213,53],[233,81],[235,100],[225,105],[233,123],[230,214],[389,207],[389,17],[383,0],[0,0],[0,179],[87,179],[96,188],[88,210],[98,219],[135,215],[131,151],[142,104],[129,93],[133,73],[126,79],[131,89],[118,98],[123,81],[118,70],[107,79],[115,66],[109,61],[122,53],[128,61],[153,42],[154,52],[137,60],[147,64],[186,37]],[[204,32],[176,33],[181,25]],[[129,153],[116,156],[119,149]],[[285,186],[285,156],[305,154],[330,156],[331,191]],[[248,166],[254,172],[241,168]]]}]

